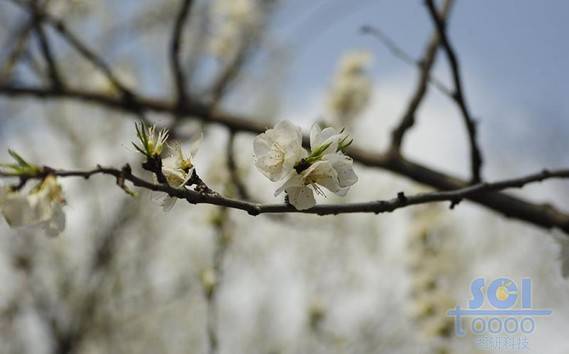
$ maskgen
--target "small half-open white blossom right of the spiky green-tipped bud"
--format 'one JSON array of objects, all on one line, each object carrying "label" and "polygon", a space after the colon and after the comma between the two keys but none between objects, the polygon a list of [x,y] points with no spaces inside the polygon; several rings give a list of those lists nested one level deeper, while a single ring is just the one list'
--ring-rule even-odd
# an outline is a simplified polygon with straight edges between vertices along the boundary
[{"label": "small half-open white blossom right of the spiky green-tipped bud", "polygon": [[[194,172],[194,156],[197,154],[203,136],[196,140],[185,154],[182,145],[174,142],[169,146],[170,155],[162,160],[162,174],[168,185],[174,188],[183,188]],[[169,211],[176,204],[176,198],[167,195],[162,199],[161,205],[164,211]]]}]

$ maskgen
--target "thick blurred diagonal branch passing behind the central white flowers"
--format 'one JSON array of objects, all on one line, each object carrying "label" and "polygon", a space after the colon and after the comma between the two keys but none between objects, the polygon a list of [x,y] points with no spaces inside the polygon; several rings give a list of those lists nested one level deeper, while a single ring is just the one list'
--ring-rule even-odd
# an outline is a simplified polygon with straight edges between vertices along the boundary
[{"label": "thick blurred diagonal branch passing behind the central white flowers", "polygon": [[[132,114],[138,114],[139,109],[167,114],[176,114],[178,110],[175,104],[166,100],[142,98],[139,96],[137,97],[138,107],[133,107],[129,105],[128,102],[111,95],[83,90],[67,89],[65,91],[54,91],[50,88],[18,88],[9,85],[0,85],[0,95],[7,97],[36,97],[41,99],[72,99]],[[208,123],[220,124],[239,132],[260,134],[267,128],[265,124],[259,123],[251,118],[225,113],[220,110],[212,112],[209,105],[199,104],[197,102],[192,102],[191,105],[180,112],[180,115],[188,119],[201,119]],[[304,141],[308,142],[308,138],[305,137]],[[402,156],[379,154],[373,151],[366,151],[356,146],[350,147],[348,154],[354,161],[361,165],[391,171],[438,190],[462,189],[471,184],[460,178],[435,171]],[[531,203],[522,198],[505,193],[483,193],[469,196],[466,199],[486,206],[504,216],[523,220],[547,229],[552,227],[564,229],[567,220],[569,220],[569,214],[565,214],[550,205]]]}]

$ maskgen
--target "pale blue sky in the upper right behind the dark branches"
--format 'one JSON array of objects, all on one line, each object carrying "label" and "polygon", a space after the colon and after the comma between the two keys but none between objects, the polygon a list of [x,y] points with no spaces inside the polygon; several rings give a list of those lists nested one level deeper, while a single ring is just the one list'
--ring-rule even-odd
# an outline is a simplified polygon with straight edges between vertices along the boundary
[{"label": "pale blue sky in the upper right behind the dark branches", "polygon": [[[467,99],[480,119],[481,140],[497,151],[548,166],[569,162],[563,157],[569,148],[568,13],[569,2],[561,0],[455,3],[449,31]],[[288,107],[298,110],[319,97],[337,59],[352,48],[374,53],[378,90],[397,80],[413,87],[414,69],[361,35],[358,29],[366,24],[381,28],[414,57],[432,31],[423,1],[288,2],[275,24],[277,37],[295,48]],[[436,75],[443,79],[448,78],[445,64],[439,55]]]}]

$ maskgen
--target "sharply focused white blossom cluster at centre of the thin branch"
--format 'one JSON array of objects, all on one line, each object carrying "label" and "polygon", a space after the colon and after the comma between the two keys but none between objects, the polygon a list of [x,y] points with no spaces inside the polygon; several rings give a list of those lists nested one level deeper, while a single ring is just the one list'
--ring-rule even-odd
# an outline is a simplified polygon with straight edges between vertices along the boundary
[{"label": "sharply focused white blossom cluster at centre of the thin branch", "polygon": [[310,152],[302,147],[302,132],[288,121],[255,137],[255,166],[273,182],[285,179],[275,196],[286,192],[288,201],[298,210],[316,204],[314,192],[324,195],[321,187],[344,196],[358,181],[353,160],[344,154],[352,138],[344,130],[310,131]]}]

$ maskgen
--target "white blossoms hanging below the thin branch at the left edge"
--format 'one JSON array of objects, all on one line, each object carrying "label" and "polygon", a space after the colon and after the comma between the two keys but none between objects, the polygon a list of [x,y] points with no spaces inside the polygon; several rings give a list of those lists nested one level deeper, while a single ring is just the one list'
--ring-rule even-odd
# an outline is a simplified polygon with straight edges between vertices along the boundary
[{"label": "white blossoms hanging below the thin branch at the left edge", "polygon": [[0,190],[0,209],[10,227],[39,226],[49,236],[65,228],[65,199],[54,176],[47,176],[25,195],[8,187]]}]

